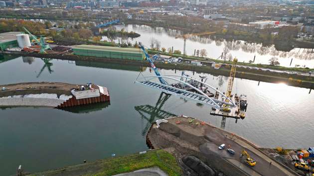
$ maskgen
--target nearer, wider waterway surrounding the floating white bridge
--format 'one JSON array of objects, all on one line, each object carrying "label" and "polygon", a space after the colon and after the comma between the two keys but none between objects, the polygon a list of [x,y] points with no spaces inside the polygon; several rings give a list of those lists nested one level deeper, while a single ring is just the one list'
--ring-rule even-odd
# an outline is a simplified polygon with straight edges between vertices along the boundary
[{"label": "nearer, wider waterway surrounding the floating white bridge", "polygon": [[[1,59],[0,59],[1,60]],[[2,63],[1,63],[2,62]],[[244,120],[209,115],[210,107],[165,96],[156,89],[134,84],[137,66],[51,60],[51,73],[39,58],[2,59],[0,84],[19,82],[95,83],[109,89],[110,104],[65,110],[46,107],[0,108],[1,175],[44,171],[67,165],[147,150],[145,134],[158,113],[192,116],[234,132],[260,147],[308,148],[314,142],[314,94],[309,89],[235,79],[233,92],[248,96]],[[143,75],[154,75],[144,68]],[[175,74],[160,70],[162,75]],[[192,72],[186,72],[193,76]],[[180,74],[180,71],[176,71]],[[39,75],[39,76],[38,76]],[[198,78],[194,73],[194,78]],[[227,77],[203,74],[206,83],[224,91]],[[142,77],[142,76],[140,76]],[[145,110],[149,109],[149,110]],[[306,134],[306,135],[305,135]]]}]

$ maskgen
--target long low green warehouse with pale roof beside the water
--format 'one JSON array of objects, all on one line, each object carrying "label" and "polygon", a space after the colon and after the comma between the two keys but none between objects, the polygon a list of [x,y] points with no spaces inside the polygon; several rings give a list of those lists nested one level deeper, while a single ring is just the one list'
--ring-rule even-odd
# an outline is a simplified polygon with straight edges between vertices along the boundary
[{"label": "long low green warehouse with pale roof beside the water", "polygon": [[111,46],[78,45],[74,47],[75,55],[94,56],[112,59],[143,60],[144,53],[139,48],[120,48]]}]

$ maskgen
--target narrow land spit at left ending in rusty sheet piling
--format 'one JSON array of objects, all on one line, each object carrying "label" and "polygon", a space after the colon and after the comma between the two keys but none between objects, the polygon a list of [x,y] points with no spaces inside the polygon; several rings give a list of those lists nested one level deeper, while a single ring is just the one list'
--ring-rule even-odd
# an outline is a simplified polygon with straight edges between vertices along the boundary
[{"label": "narrow land spit at left ending in rusty sheet piling", "polygon": [[1,85],[0,88],[0,107],[46,106],[65,108],[110,102],[108,89],[91,83],[73,85],[55,82],[33,82]]}]

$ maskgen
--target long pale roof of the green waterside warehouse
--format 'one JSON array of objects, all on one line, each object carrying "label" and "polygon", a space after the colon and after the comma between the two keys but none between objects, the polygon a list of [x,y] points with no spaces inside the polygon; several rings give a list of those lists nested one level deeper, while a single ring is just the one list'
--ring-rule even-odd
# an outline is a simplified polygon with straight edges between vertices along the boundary
[{"label": "long pale roof of the green waterside warehouse", "polygon": [[122,52],[122,53],[137,53],[137,54],[143,53],[140,48],[121,48],[121,47],[97,46],[97,45],[77,45],[73,47],[73,49]]}]

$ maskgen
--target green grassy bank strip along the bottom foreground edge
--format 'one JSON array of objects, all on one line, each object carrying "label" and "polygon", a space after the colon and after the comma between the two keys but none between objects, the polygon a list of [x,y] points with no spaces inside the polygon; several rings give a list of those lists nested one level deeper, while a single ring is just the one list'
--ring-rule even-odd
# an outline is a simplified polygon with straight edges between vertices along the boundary
[{"label": "green grassy bank strip along the bottom foreground edge", "polygon": [[146,154],[97,160],[29,176],[112,176],[151,167],[158,167],[169,176],[182,175],[181,168],[170,153],[164,150],[152,150]]}]

